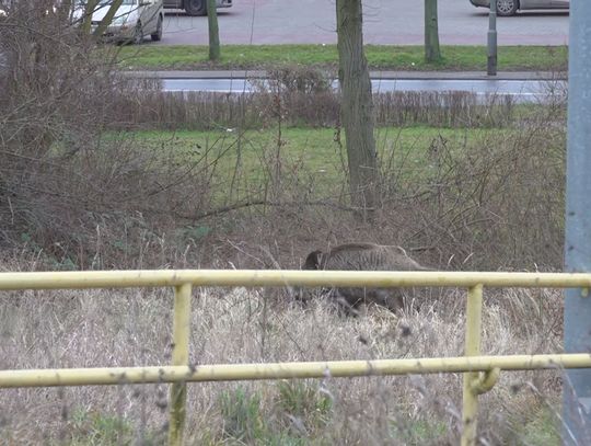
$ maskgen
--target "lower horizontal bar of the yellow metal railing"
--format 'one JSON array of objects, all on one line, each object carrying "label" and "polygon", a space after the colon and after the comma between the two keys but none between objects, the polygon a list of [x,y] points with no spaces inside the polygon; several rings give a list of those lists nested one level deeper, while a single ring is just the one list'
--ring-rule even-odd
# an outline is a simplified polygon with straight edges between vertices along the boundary
[{"label": "lower horizontal bar of the yellow metal railing", "polygon": [[591,355],[578,353],[313,363],[221,364],[188,367],[58,368],[1,370],[0,388],[356,377],[486,371],[494,368],[501,370],[529,370],[590,367]]}]

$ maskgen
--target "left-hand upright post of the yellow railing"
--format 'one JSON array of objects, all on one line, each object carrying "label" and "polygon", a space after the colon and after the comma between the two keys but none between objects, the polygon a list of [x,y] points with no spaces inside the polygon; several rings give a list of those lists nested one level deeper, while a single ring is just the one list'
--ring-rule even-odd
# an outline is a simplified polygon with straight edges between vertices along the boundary
[{"label": "left-hand upright post of the yellow railing", "polygon": [[[173,352],[172,365],[188,365],[190,333],[190,284],[174,288]],[[171,411],[169,420],[169,445],[181,446],[185,430],[187,400],[186,382],[174,382],[171,386]]]}]

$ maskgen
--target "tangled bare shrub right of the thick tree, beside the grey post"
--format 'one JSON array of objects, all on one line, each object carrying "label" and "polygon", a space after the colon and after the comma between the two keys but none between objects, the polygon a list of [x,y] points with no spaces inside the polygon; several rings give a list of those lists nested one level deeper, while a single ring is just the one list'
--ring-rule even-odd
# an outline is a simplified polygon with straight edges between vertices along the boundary
[{"label": "tangled bare shrub right of the thick tree, beside the grey post", "polygon": [[413,228],[403,244],[437,253],[434,264],[558,268],[565,147],[564,128],[547,118],[470,144],[433,138],[428,170],[386,163],[384,218]]}]

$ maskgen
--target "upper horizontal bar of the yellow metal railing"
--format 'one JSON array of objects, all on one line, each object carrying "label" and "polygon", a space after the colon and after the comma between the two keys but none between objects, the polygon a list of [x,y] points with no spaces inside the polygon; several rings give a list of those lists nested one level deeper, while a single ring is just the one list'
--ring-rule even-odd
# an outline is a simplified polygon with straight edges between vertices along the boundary
[{"label": "upper horizontal bar of the yellow metal railing", "polygon": [[591,274],[158,270],[0,273],[0,290],[194,286],[547,287],[591,288]]}]

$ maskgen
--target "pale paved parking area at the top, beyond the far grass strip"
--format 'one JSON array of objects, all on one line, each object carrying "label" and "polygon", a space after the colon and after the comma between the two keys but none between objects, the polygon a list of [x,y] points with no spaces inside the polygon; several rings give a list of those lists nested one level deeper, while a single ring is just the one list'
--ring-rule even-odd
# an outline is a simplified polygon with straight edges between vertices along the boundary
[{"label": "pale paved parking area at the top, beyond the far grass strip", "polygon": [[[334,44],[335,0],[234,0],[220,9],[223,44]],[[366,44],[421,45],[424,0],[364,0]],[[160,45],[207,45],[207,18],[166,10]],[[448,45],[485,45],[488,12],[468,0],[439,0],[439,36]],[[532,11],[498,20],[499,45],[565,45],[568,12]]]}]

